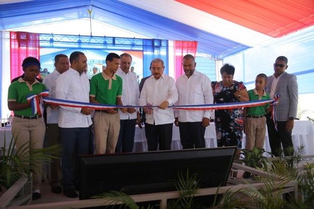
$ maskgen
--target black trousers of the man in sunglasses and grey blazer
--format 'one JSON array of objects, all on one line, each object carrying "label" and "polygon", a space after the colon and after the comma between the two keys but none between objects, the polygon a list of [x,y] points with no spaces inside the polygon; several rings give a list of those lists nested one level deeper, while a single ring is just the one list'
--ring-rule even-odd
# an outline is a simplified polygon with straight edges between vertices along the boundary
[{"label": "black trousers of the man in sunglasses and grey blazer", "polygon": [[[277,129],[276,131],[274,123],[272,121],[271,114],[268,113],[266,115],[266,123],[267,123],[267,131],[269,138],[269,145],[271,149],[271,153],[274,156],[280,156],[282,153],[281,144],[284,148],[285,156],[289,156],[293,154],[293,143],[291,132],[286,131],[286,123],[287,121],[277,121]],[[292,147],[292,148],[291,148]]]}]

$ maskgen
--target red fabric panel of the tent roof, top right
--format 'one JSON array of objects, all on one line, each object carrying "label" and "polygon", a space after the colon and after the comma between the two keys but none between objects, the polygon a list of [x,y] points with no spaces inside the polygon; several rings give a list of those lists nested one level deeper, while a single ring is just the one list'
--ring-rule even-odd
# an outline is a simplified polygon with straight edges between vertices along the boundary
[{"label": "red fabric panel of the tent roof, top right", "polygon": [[313,0],[176,1],[272,37],[314,25]]}]

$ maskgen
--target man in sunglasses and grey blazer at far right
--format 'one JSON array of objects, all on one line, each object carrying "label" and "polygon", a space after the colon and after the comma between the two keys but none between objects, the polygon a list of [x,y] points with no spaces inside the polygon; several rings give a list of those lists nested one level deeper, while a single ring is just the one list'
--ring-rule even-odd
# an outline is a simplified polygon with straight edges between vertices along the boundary
[{"label": "man in sunglasses and grey blazer at far right", "polygon": [[271,118],[271,111],[266,115],[267,131],[271,152],[274,156],[280,156],[281,144],[285,156],[293,154],[293,143],[291,132],[294,125],[294,118],[298,107],[298,83],[295,75],[285,72],[288,68],[288,59],[280,56],[273,64],[274,73],[268,77],[266,92],[270,98],[276,94],[280,95],[279,103],[276,105],[276,125]]}]

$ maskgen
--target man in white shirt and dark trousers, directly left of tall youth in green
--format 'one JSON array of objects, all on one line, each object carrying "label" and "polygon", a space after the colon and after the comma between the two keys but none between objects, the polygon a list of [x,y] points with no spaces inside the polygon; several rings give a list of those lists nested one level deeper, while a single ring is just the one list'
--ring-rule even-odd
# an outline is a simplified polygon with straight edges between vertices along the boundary
[{"label": "man in white shirt and dark trousers, directly left of tall youth in green", "polygon": [[[84,72],[87,67],[87,58],[82,52],[73,52],[70,55],[71,67],[57,79],[56,98],[76,102],[89,102],[90,85]],[[75,166],[75,182],[73,183],[73,153],[78,165],[78,155],[87,154],[89,146],[89,127],[92,124],[89,108],[60,106],[58,125],[61,131],[62,153],[62,185],[63,194],[75,198],[74,184],[79,182],[78,166]]]}]

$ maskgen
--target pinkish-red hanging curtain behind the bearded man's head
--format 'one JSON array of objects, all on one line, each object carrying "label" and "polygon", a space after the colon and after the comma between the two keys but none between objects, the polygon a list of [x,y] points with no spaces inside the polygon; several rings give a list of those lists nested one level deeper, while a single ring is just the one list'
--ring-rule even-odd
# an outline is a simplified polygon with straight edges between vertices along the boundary
[{"label": "pinkish-red hanging curtain behind the bearded man's head", "polygon": [[183,72],[182,58],[186,54],[191,54],[195,57],[198,48],[198,41],[175,40],[174,41],[174,56],[175,56],[175,77],[180,77]]}]

